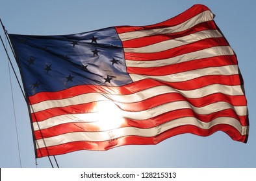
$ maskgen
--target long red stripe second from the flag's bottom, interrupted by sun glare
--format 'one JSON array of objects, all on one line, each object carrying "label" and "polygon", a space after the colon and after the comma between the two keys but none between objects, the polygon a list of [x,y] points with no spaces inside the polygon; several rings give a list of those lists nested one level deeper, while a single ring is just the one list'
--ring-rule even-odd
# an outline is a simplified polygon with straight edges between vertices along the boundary
[{"label": "long red stripe second from the flag's bottom, interrupted by sun glare", "polygon": [[[194,117],[202,122],[211,122],[212,120],[220,117],[230,117],[240,120],[242,125],[247,125],[246,116],[237,116],[236,112],[232,109],[226,109],[224,111],[214,112],[212,114],[202,115],[193,112],[191,109],[181,109],[177,111],[167,112],[165,114],[161,114],[153,119],[147,120],[131,120],[131,119],[123,119],[123,122],[118,125],[120,127],[138,127],[141,129],[147,129],[156,127],[161,125],[162,123],[170,122],[177,118],[185,118],[185,117]],[[72,132],[97,132],[103,131],[103,127],[101,127],[101,122],[97,123],[85,123],[85,122],[72,122],[72,123],[63,123],[60,125],[56,125],[53,127],[49,127],[47,129],[41,129],[40,131],[34,131],[34,135],[36,140],[42,138],[49,138],[52,136],[57,136],[65,133]]]}]

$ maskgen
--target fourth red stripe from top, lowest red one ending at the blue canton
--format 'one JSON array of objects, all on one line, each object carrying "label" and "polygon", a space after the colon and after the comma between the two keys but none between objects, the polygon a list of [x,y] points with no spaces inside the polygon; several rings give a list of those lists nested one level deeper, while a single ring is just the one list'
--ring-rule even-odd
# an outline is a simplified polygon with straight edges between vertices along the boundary
[{"label": "fourth red stripe from top, lowest red one ending at the blue canton", "polygon": [[236,56],[216,56],[211,58],[194,59],[162,67],[127,67],[127,72],[129,74],[147,76],[164,76],[189,70],[203,69],[207,67],[222,67],[225,65],[237,65]]}]

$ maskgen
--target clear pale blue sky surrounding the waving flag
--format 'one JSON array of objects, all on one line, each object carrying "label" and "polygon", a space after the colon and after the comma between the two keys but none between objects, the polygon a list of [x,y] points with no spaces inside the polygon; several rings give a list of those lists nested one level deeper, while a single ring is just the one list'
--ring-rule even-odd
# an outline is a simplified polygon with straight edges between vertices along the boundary
[{"label": "clear pale blue sky surrounding the waving flag", "polygon": [[[198,3],[208,6],[216,15],[216,24],[237,54],[250,115],[248,143],[235,142],[222,132],[208,137],[181,134],[158,145],[125,145],[109,151],[59,155],[56,158],[60,167],[256,167],[256,1],[0,1],[0,17],[8,33],[33,35],[75,34],[115,25],[151,25]],[[3,30],[0,34],[5,41]],[[19,75],[13,56],[11,59]],[[27,105],[12,70],[9,76],[2,45],[0,63],[0,167],[36,167]],[[38,167],[51,167],[47,157],[39,158],[37,163]]]}]

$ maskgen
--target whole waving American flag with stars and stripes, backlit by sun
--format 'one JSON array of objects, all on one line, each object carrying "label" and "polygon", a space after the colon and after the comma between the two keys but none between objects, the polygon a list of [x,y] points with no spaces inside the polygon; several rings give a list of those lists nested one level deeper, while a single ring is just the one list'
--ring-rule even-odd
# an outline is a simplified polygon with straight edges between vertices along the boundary
[{"label": "whole waving American flag with stars and stripes, backlit by sun", "polygon": [[203,5],[144,27],[10,34],[36,157],[224,131],[246,142],[237,57]]}]

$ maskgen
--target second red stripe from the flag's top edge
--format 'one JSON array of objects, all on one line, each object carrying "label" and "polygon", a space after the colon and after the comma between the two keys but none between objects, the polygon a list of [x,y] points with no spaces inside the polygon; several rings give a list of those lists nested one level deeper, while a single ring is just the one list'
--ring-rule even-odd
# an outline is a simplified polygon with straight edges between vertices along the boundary
[{"label": "second red stripe from the flag's top edge", "polygon": [[157,34],[153,36],[139,37],[136,39],[131,39],[123,42],[123,48],[138,48],[138,47],[146,47],[147,45],[152,45],[154,43],[159,43],[161,41],[166,41],[170,39],[175,39],[177,37],[186,36],[189,34],[194,34],[196,32],[200,32],[202,30],[216,30],[217,27],[214,21],[207,21],[204,23],[200,23],[188,30],[183,32],[177,32],[172,34]]}]

